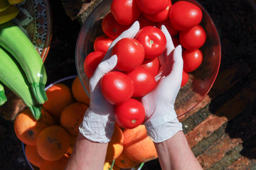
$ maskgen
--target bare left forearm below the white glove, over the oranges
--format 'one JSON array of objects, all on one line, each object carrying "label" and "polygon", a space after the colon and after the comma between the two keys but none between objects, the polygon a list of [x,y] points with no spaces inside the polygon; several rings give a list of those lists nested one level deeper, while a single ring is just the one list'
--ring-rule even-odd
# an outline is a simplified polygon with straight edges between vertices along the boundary
[{"label": "bare left forearm below the white glove, over the oranges", "polygon": [[101,144],[87,140],[80,133],[66,170],[102,170],[107,152],[107,143]]}]

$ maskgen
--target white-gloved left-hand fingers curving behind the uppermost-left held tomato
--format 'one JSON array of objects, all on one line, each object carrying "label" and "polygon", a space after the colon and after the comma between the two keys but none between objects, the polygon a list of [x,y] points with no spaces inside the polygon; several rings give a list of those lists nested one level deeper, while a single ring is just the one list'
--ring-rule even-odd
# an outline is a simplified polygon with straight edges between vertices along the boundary
[{"label": "white-gloved left-hand fingers curving behind the uppermost-left held tomato", "polygon": [[112,48],[114,47],[114,45],[119,40],[121,40],[122,38],[134,38],[135,35],[138,33],[138,31],[139,31],[139,21],[135,21],[129,29],[124,30],[123,33],[121,33],[116,39],[113,40],[113,42],[111,43],[109,49],[106,52],[105,57],[103,58],[103,61],[105,61],[108,58],[110,58],[111,52],[112,52]]}]

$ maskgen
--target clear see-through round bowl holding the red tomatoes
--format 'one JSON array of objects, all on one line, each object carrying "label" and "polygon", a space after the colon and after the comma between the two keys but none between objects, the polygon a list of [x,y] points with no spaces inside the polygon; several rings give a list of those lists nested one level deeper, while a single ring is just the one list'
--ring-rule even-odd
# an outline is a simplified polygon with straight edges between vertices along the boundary
[{"label": "clear see-through round bowl holding the red tomatoes", "polygon": [[[188,113],[208,94],[220,67],[220,38],[215,28],[213,19],[198,1],[188,0],[196,4],[203,11],[203,19],[200,23],[206,31],[206,42],[200,50],[203,52],[203,62],[196,71],[189,74],[188,83],[181,88],[174,105],[176,113],[179,116]],[[85,75],[83,63],[85,57],[93,51],[93,42],[97,36],[102,35],[101,22],[102,18],[110,11],[112,0],[104,0],[90,13],[85,23],[83,23],[78,36],[75,50],[75,64],[78,77],[82,86],[89,95],[89,79]],[[176,1],[172,1],[174,4]]]}]

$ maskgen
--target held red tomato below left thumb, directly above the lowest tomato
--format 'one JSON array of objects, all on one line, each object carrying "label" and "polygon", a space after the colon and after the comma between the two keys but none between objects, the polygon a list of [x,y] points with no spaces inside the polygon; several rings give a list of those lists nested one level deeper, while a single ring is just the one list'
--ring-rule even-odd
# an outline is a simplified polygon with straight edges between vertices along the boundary
[{"label": "held red tomato below left thumb, directly above the lowest tomato", "polygon": [[122,72],[108,72],[100,81],[100,88],[106,100],[114,105],[119,105],[132,97],[134,84]]}]

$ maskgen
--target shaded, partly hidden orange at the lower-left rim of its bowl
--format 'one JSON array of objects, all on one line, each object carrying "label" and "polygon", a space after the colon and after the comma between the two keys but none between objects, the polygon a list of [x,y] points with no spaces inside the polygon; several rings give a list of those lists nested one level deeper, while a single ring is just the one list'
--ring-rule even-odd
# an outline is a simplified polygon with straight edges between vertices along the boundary
[{"label": "shaded, partly hidden orange at the lower-left rim of its bowl", "polygon": [[43,158],[37,152],[36,146],[25,146],[25,154],[28,162],[40,168],[41,163],[43,162]]}]

